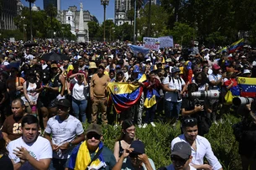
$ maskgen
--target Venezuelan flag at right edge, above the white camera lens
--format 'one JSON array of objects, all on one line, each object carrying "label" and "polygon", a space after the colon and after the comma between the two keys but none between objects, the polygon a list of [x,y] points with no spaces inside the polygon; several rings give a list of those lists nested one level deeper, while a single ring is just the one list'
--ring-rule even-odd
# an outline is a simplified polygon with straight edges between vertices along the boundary
[{"label": "Venezuelan flag at right edge, above the white camera lens", "polygon": [[238,77],[238,85],[242,89],[241,96],[243,97],[256,96],[256,78]]}]

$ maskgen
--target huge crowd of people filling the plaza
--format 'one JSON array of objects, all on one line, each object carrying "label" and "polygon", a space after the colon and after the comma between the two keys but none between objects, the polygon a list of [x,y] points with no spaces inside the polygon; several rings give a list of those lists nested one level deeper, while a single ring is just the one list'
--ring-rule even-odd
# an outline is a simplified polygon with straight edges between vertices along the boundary
[{"label": "huge crowd of people filling the plaza", "polygon": [[[6,42],[0,50],[0,164],[8,156],[13,163],[6,166],[14,169],[155,169],[135,137],[135,125],[155,127],[156,119],[172,127],[180,120],[184,133],[171,142],[173,164],[163,168],[222,169],[203,136],[234,110],[225,95],[240,95],[237,77],[256,78],[256,53],[248,46],[232,54],[197,45],[144,54],[128,43],[39,41],[29,47]],[[44,59],[49,53],[68,59]],[[132,107],[117,113],[108,102],[110,82],[143,91]],[[220,97],[198,100],[192,95],[207,90],[217,90]],[[153,93],[156,103],[145,106]],[[245,109],[256,122],[250,114],[253,105]],[[84,131],[86,122],[90,126]],[[122,126],[113,152],[104,146],[98,124]],[[244,158],[244,169],[255,166],[254,155]]]}]

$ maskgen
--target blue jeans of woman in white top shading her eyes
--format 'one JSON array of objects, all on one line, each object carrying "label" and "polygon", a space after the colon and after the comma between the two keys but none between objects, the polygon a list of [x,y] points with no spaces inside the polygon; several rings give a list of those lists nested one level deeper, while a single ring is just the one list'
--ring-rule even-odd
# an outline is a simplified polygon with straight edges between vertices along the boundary
[{"label": "blue jeans of woman in white top shading her eyes", "polygon": [[81,116],[81,122],[86,121],[86,107],[87,100],[76,100],[72,98],[72,108],[74,112],[74,116],[79,119],[79,115]]}]

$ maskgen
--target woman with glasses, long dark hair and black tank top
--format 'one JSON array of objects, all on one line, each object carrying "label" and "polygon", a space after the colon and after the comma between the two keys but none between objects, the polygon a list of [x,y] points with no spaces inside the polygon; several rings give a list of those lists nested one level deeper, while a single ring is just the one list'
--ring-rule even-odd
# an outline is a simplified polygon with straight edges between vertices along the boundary
[{"label": "woman with glasses, long dark hair and black tank top", "polygon": [[131,146],[131,143],[135,140],[135,131],[136,128],[133,125],[132,120],[125,120],[122,123],[121,136],[115,142],[114,147],[114,156],[118,162],[119,157],[123,154],[124,149],[128,149]]}]

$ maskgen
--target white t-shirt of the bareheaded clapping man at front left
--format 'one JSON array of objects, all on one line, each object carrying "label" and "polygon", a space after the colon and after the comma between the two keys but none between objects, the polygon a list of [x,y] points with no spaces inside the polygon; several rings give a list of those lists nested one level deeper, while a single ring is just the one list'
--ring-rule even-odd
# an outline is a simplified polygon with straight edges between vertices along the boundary
[{"label": "white t-shirt of the bareheaded clapping man at front left", "polygon": [[[13,154],[13,150],[17,150],[17,147],[25,147],[31,156],[33,156],[36,160],[40,159],[50,159],[52,158],[52,148],[50,146],[50,142],[44,137],[38,137],[34,143],[25,143],[22,137],[9,142],[7,149],[9,152],[9,157],[13,159],[14,163],[20,162],[19,157]],[[29,162],[25,162],[20,170],[30,170],[34,169]]]}]

